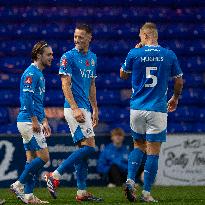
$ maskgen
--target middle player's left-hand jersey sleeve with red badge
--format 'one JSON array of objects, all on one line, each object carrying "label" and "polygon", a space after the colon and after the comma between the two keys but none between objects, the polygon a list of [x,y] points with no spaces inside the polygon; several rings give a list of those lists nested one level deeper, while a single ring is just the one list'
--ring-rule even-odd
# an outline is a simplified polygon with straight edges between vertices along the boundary
[{"label": "middle player's left-hand jersey sleeve with red badge", "polygon": [[72,55],[63,55],[60,59],[60,75],[72,76]]}]

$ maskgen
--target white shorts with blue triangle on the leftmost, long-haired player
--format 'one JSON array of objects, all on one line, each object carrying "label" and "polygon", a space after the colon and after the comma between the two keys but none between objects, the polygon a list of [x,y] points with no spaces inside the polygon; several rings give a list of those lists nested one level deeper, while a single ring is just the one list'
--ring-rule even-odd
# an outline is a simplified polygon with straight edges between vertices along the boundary
[{"label": "white shorts with blue triangle on the leftmost, long-haired player", "polygon": [[[42,128],[42,125],[40,126]],[[23,138],[26,151],[37,151],[47,147],[46,137],[42,129],[40,133],[33,132],[31,122],[17,122],[17,127]]]}]

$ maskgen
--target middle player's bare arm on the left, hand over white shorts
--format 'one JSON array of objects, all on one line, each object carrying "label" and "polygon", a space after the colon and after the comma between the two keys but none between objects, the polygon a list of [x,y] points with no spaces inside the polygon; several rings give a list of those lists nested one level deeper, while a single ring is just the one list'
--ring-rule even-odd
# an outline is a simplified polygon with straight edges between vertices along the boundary
[{"label": "middle player's bare arm on the left, hand over white shorts", "polygon": [[61,81],[62,81],[62,90],[63,90],[64,96],[67,99],[67,101],[69,102],[71,109],[73,110],[74,118],[79,123],[85,122],[85,116],[84,116],[82,110],[80,110],[78,108],[78,105],[75,102],[74,97],[73,97],[73,93],[71,91],[71,87],[70,87],[71,86],[71,77],[62,75]]}]

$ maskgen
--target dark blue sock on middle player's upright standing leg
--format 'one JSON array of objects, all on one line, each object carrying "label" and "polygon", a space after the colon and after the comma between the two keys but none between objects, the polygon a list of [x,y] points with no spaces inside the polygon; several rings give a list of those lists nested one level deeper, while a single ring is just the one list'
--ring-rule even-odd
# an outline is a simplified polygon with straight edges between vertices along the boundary
[{"label": "dark blue sock on middle player's upright standing leg", "polygon": [[88,175],[87,159],[82,159],[79,164],[76,164],[75,170],[76,170],[78,190],[85,190],[86,189],[86,179]]}]

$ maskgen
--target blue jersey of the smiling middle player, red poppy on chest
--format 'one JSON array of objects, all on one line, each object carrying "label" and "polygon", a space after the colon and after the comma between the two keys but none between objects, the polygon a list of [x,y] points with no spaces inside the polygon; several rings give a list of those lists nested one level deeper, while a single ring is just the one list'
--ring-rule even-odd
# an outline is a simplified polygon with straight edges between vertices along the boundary
[{"label": "blue jersey of the smiling middle player, red poppy on chest", "polygon": [[[63,54],[60,60],[60,75],[71,76],[71,90],[79,108],[90,111],[90,86],[92,78],[96,77],[97,57],[90,50],[82,54],[76,48]],[[65,99],[65,108],[70,108]]]}]

